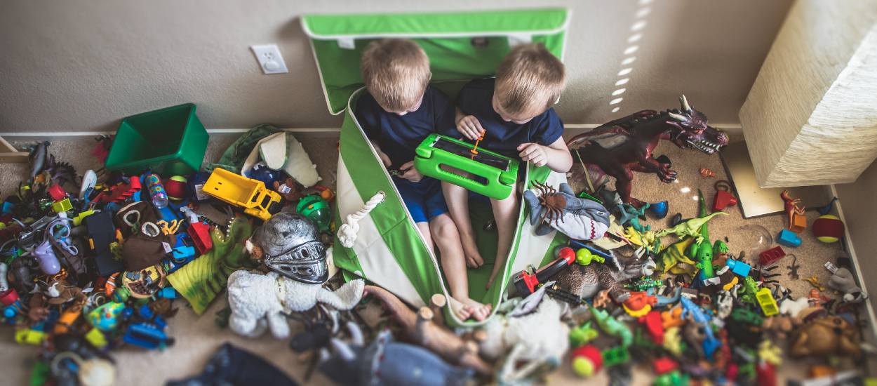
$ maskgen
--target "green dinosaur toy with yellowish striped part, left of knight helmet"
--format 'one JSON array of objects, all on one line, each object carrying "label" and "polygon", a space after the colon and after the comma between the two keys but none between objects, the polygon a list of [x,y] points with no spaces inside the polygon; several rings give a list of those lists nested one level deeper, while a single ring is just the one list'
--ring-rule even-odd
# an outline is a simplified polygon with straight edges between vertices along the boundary
[{"label": "green dinosaur toy with yellowish striped part, left of knight helmet", "polygon": [[259,266],[244,248],[244,241],[251,234],[253,225],[242,217],[234,218],[225,234],[214,227],[210,230],[213,248],[168,275],[168,282],[189,300],[197,315],[206,311],[210,302],[225,289],[232,272]]}]

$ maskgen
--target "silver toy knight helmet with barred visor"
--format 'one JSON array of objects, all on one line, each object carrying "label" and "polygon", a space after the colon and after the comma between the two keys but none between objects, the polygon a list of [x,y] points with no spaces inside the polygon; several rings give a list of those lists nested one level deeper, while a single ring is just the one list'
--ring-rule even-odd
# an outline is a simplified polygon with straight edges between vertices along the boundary
[{"label": "silver toy knight helmet with barred visor", "polygon": [[252,241],[262,249],[265,265],[280,275],[310,284],[329,279],[317,225],[298,213],[275,214],[253,232]]}]

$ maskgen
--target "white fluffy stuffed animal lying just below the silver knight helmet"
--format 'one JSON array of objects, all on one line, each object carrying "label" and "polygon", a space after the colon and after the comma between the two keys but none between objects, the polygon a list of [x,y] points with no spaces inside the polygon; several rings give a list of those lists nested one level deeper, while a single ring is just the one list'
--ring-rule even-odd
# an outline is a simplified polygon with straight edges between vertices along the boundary
[{"label": "white fluffy stuffed animal lying just below the silver knight helmet", "polygon": [[229,327],[247,337],[260,336],[267,327],[275,338],[285,339],[289,325],[283,312],[308,311],[317,303],[350,310],[360,303],[364,287],[357,279],[332,292],[322,284],[296,282],[275,272],[235,271],[228,277]]}]

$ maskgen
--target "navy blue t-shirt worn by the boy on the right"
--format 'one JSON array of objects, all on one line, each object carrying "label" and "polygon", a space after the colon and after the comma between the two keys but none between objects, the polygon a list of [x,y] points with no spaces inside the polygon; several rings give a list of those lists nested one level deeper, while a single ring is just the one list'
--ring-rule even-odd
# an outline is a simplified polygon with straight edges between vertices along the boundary
[{"label": "navy blue t-shirt worn by the boy on the right", "polygon": [[[484,139],[479,146],[519,160],[517,147],[521,144],[531,142],[548,146],[563,135],[563,122],[553,108],[524,125],[504,121],[493,109],[495,80],[496,78],[488,78],[468,82],[460,89],[460,96],[457,96],[460,111],[466,115],[474,115],[484,128]],[[456,125],[440,133],[458,139],[462,136]]]}]

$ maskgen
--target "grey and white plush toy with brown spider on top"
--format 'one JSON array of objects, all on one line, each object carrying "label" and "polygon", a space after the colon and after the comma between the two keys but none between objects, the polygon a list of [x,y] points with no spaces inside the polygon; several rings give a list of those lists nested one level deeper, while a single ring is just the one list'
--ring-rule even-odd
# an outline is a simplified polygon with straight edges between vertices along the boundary
[{"label": "grey and white plush toy with brown spider on top", "polygon": [[609,211],[600,203],[575,197],[566,182],[560,184],[560,191],[545,184],[534,186],[536,191],[524,191],[524,201],[530,206],[530,224],[536,226],[537,236],[556,229],[571,239],[599,239],[609,229]]}]

